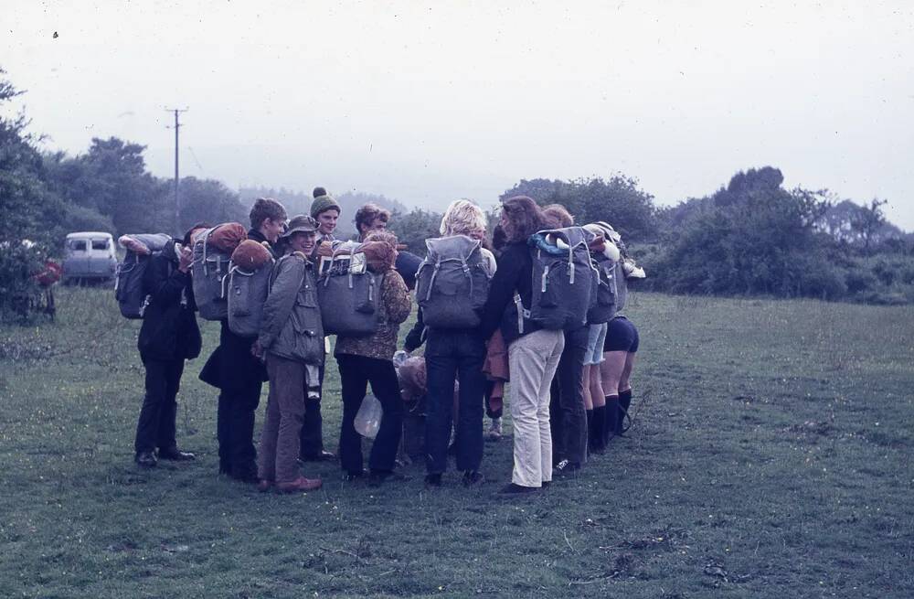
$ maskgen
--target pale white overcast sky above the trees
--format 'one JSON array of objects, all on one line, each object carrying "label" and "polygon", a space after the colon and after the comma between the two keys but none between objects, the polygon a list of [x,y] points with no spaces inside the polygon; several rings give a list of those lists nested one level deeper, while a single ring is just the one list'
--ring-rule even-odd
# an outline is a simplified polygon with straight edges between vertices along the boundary
[{"label": "pale white overcast sky above the trees", "polygon": [[[914,230],[911,2],[4,0],[0,67],[48,149],[173,173],[492,204],[521,178],[736,171],[889,200]],[[55,37],[55,32],[57,37]]]}]

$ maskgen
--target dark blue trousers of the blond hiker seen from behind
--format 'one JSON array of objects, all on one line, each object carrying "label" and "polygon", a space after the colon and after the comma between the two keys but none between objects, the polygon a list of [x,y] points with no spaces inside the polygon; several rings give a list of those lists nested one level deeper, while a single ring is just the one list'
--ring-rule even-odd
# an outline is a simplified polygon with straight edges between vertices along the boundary
[{"label": "dark blue trousers of the blond hiker seen from behind", "polygon": [[425,418],[426,470],[441,474],[448,465],[453,422],[454,381],[458,381],[457,469],[475,472],[483,463],[485,343],[469,332],[430,329],[425,348],[428,380]]}]

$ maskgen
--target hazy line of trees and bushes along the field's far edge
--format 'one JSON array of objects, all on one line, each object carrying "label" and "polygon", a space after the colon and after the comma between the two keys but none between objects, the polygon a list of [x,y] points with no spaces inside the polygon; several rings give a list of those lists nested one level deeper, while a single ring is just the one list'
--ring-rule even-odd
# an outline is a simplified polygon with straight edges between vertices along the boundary
[{"label": "hazy line of trees and bushes along the field's far edge", "polygon": [[[0,69],[0,107],[20,93]],[[200,221],[246,222],[251,202],[262,196],[279,199],[290,214],[310,209],[311,195],[303,192],[236,192],[187,176],[179,182],[175,215],[174,183],[146,170],[145,146],[93,138],[79,155],[47,153],[27,125],[21,112],[0,116],[0,317],[22,313],[37,293],[31,275],[46,257],[59,256],[68,232],[177,234]],[[647,269],[643,285],[651,290],[914,302],[914,235],[887,222],[885,200],[860,205],[824,190],[787,189],[783,178],[771,166],[749,169],[672,207],[656,206],[653,195],[622,174],[524,179],[500,199],[526,195],[543,206],[565,206],[582,224],[610,222]],[[364,193],[337,200],[343,235],[355,233],[352,216],[369,201],[393,213],[389,227],[410,251],[424,255],[425,240],[438,235],[441,214],[433,210]],[[494,225],[496,208],[491,215]]]}]

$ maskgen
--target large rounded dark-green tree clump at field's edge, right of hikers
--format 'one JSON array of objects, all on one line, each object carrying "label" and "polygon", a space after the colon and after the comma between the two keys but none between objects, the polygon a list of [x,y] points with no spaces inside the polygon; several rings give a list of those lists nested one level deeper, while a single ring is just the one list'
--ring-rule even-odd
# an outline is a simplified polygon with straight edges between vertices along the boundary
[{"label": "large rounded dark-green tree clump at field's edge, right of hikers", "polygon": [[828,206],[823,192],[782,182],[771,167],[734,176],[671,235],[655,264],[660,284],[687,293],[843,294],[816,230]]}]

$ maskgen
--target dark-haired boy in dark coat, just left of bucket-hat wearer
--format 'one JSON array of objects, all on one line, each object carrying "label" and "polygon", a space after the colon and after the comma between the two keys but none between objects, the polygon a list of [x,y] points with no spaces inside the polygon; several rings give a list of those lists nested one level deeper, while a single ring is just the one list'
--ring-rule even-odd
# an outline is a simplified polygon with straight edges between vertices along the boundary
[{"label": "dark-haired boy in dark coat, just left of bucket-hat wearer", "polygon": [[[250,209],[248,239],[275,243],[285,229],[287,216],[275,199],[259,198]],[[241,337],[220,322],[219,345],[200,372],[200,379],[218,388],[216,434],[219,473],[257,483],[257,450],[254,447],[254,414],[267,371],[250,353],[254,337]]]}]

